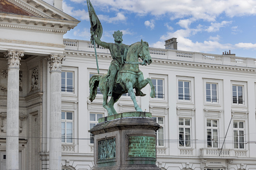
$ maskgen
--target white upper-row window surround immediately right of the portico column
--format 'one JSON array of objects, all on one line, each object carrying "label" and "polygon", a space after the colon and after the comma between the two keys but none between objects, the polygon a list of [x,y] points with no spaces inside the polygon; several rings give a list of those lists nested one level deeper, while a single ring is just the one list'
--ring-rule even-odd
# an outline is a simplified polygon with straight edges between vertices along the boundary
[{"label": "white upper-row window surround immediately right of the portico column", "polygon": [[[66,91],[62,91],[61,90],[61,95],[62,96],[77,96],[77,68],[76,67],[66,67],[66,66],[62,66],[61,69],[61,74],[62,72],[72,72],[73,73],[73,92],[66,92]],[[61,78],[62,79],[62,78]],[[61,83],[62,86],[62,83]]]}]

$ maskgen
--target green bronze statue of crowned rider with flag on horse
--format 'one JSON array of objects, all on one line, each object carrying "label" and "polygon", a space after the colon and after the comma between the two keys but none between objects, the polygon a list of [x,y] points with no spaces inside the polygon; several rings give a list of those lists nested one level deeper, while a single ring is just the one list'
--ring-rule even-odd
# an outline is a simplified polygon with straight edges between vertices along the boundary
[{"label": "green bronze statue of crowned rider with flag on horse", "polygon": [[[89,0],[89,16],[91,22],[91,34],[92,34],[92,44],[107,48],[110,50],[111,57],[113,58],[107,74],[94,75],[90,78],[90,100],[91,102],[95,99],[97,94],[97,88],[103,94],[103,107],[107,109],[108,115],[117,114],[114,109],[114,103],[122,96],[122,94],[129,93],[133,101],[136,111],[142,111],[136,102],[135,96],[145,96],[141,92],[147,84],[151,87],[150,97],[155,97],[155,89],[151,79],[144,79],[143,73],[139,70],[139,64],[147,65],[151,64],[152,59],[148,49],[148,43],[137,42],[132,45],[123,44],[122,32],[114,32],[114,42],[106,43],[100,40],[102,36],[102,26],[94,11],[94,8]],[[138,62],[138,59],[142,62]],[[98,62],[97,62],[98,65]],[[135,93],[133,91],[135,89]],[[108,96],[111,96],[108,102]]]}]

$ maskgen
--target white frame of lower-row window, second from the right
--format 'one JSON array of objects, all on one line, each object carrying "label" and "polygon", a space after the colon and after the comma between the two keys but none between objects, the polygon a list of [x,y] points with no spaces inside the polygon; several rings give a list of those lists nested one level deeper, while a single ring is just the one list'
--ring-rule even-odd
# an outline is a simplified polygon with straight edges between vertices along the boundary
[{"label": "white frame of lower-row window, second from the right", "polygon": [[[207,126],[207,120],[211,120],[211,126]],[[217,127],[213,127],[212,126],[212,121],[213,120],[217,120]],[[216,118],[206,118],[206,124],[205,124],[205,129],[206,129],[206,148],[219,148],[220,146],[220,141],[219,141],[219,136],[220,136],[220,120],[216,119]],[[208,147],[208,134],[207,134],[207,130],[211,129],[211,138],[213,138],[213,129],[217,129],[217,147],[213,147],[213,141],[211,141],[211,147]]]}]

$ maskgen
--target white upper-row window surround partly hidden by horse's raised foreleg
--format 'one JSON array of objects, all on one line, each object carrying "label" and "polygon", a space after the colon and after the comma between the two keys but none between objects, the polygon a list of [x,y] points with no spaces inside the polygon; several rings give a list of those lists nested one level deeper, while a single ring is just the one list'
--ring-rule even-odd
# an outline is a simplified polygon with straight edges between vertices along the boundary
[{"label": "white upper-row window surround partly hidden by horse's raised foreleg", "polygon": [[[168,99],[168,77],[167,75],[164,75],[164,74],[149,74],[149,78],[150,79],[160,79],[160,80],[163,80],[163,98],[151,98],[149,99],[149,101],[151,102],[164,102],[166,103],[167,102],[167,99]],[[151,92],[151,88],[149,88],[149,92],[148,92],[148,95],[150,94]]]}]

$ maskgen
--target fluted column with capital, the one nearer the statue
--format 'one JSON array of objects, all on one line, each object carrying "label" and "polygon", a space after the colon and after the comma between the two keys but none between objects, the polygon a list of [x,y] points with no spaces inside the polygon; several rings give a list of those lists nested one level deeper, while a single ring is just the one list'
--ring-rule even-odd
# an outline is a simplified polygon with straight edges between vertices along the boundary
[{"label": "fluted column with capital, the one nearer the statue", "polygon": [[49,170],[61,170],[61,64],[64,55],[50,55]]}]

